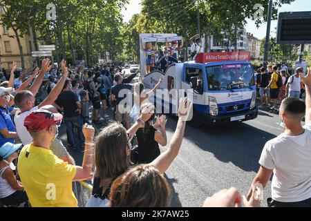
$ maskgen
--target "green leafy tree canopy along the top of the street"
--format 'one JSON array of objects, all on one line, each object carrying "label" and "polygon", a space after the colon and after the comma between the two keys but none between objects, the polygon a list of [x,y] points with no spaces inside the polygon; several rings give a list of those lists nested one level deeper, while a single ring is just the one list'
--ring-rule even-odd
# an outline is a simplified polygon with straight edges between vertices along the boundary
[{"label": "green leafy tree canopy along the top of the street", "polygon": [[[273,17],[283,3],[294,0],[274,1]],[[46,5],[55,3],[55,25],[46,20]],[[185,38],[185,44],[198,33],[197,10],[200,13],[200,32],[213,35],[214,39],[236,39],[234,28],[240,28],[246,19],[252,19],[254,5],[261,3],[265,22],[269,0],[142,0],[142,12],[124,23],[121,10],[129,0],[1,0],[8,12],[1,15],[1,23],[18,30],[23,36],[30,26],[38,33],[38,39],[46,44],[55,43],[60,58],[86,59],[93,64],[98,56],[110,52],[113,60],[138,61],[140,33],[176,33]],[[198,3],[198,5],[197,5]],[[55,27],[55,28],[54,28]],[[34,37],[35,38],[35,37]],[[37,39],[34,39],[37,42]],[[35,44],[36,45],[36,44]],[[294,48],[274,47],[275,55],[288,55]]]}]

